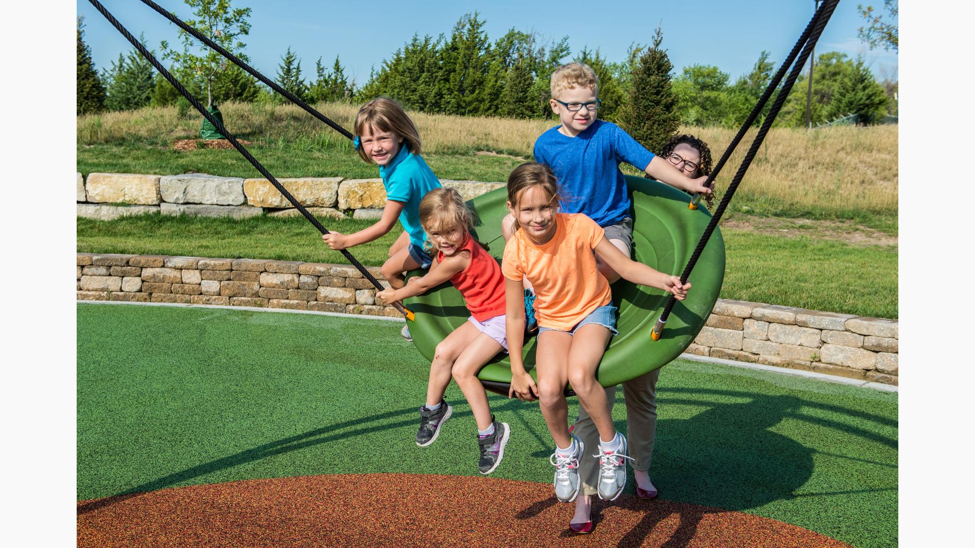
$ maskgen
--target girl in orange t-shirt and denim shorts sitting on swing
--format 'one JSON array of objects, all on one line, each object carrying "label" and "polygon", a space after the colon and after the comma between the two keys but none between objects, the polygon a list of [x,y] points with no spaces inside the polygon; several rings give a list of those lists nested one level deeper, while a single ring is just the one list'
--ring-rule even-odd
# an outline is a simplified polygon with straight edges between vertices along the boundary
[{"label": "girl in orange t-shirt and denim shorts sitting on swing", "polygon": [[[579,460],[586,457],[582,441],[567,426],[565,383],[599,429],[601,498],[613,500],[626,485],[626,438],[613,427],[604,388],[596,380],[609,338],[616,334],[616,308],[609,284],[593,252],[623,278],[684,298],[690,284],[631,260],[609,243],[604,230],[582,214],[559,213],[559,190],[552,170],[523,164],[508,177],[508,210],[517,231],[504,250],[502,272],[507,301],[511,391],[522,400],[540,400],[542,416],[556,443],[550,457],[556,467],[556,496],[570,502],[579,492]],[[538,383],[522,360],[525,323],[523,279],[535,290]],[[594,450],[595,448],[589,448]],[[591,522],[588,523],[591,528]],[[588,532],[578,530],[577,532]]]}]

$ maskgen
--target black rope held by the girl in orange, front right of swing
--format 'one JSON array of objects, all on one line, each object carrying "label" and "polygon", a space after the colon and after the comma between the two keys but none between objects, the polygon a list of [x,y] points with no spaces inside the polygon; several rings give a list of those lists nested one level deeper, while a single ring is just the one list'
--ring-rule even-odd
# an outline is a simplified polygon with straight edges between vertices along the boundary
[{"label": "black rope held by the girl in orange, front right of swing", "polygon": [[[694,253],[690,255],[690,259],[687,261],[687,266],[683,269],[683,274],[681,274],[682,284],[687,282],[687,277],[690,276],[690,272],[691,270],[693,270],[694,265],[697,263],[698,257],[700,257],[701,253],[704,251],[704,247],[708,244],[708,240],[711,238],[711,234],[715,231],[715,228],[718,226],[718,222],[721,220],[722,215],[724,214],[724,210],[727,208],[728,203],[731,201],[731,197],[734,196],[734,192],[735,190],[737,190],[738,185],[741,183],[742,178],[744,178],[745,172],[748,171],[749,166],[752,164],[752,160],[755,159],[755,155],[759,152],[759,147],[761,146],[762,140],[764,140],[765,135],[768,133],[768,130],[771,128],[772,123],[775,121],[775,117],[778,116],[779,110],[782,109],[782,105],[785,103],[786,98],[789,97],[789,92],[792,91],[793,84],[795,84],[796,79],[799,78],[800,72],[802,71],[803,65],[805,65],[806,59],[809,58],[812,49],[816,46],[816,41],[819,40],[819,35],[822,34],[823,28],[826,26],[826,23],[830,20],[830,17],[833,15],[833,11],[836,9],[837,4],[839,4],[839,0],[826,0],[826,2],[824,2],[823,5],[819,8],[819,10],[816,12],[816,15],[813,16],[813,20],[810,21],[810,24],[812,24],[813,21],[815,21],[815,24],[813,26],[813,30],[811,34],[809,34],[808,40],[806,41],[805,45],[802,47],[802,52],[800,53],[799,60],[796,61],[795,66],[793,66],[792,72],[789,73],[789,77],[786,78],[785,84],[782,85],[782,90],[779,92],[778,97],[775,98],[775,102],[772,103],[772,107],[771,109],[769,109],[768,115],[765,116],[765,120],[761,124],[761,129],[759,130],[758,135],[755,137],[755,140],[752,141],[752,145],[749,147],[748,153],[745,155],[745,159],[742,160],[741,165],[738,166],[737,173],[735,173],[734,178],[731,179],[731,183],[728,185],[727,191],[724,193],[724,196],[722,197],[722,201],[718,205],[718,209],[715,210],[715,214],[711,217],[711,221],[708,222],[707,228],[704,229],[704,234],[701,235],[701,239],[700,241],[698,241],[697,247],[694,249]],[[784,62],[783,67],[785,66],[788,66],[788,64]],[[771,95],[769,90],[766,90],[765,94]],[[762,97],[765,98],[764,95]],[[761,106],[757,105],[756,108],[753,109],[752,114],[756,114],[760,108]],[[750,115],[750,119],[751,119],[751,115]],[[744,132],[747,131],[747,129],[748,129],[748,125],[742,126],[741,130],[739,131],[739,135],[743,135]],[[725,156],[730,155],[730,151],[729,150],[725,151],[724,155]],[[722,161],[724,159],[725,159],[724,156],[722,156]],[[712,178],[713,176],[709,176],[708,180],[710,181],[710,179]],[[660,317],[657,319],[656,323],[653,326],[653,330],[650,333],[650,338],[652,338],[653,340],[660,339],[660,333],[663,330],[664,324],[667,323],[667,318],[668,316],[670,316],[671,310],[674,308],[675,302],[677,302],[677,298],[674,295],[671,295],[670,298],[667,299],[667,304],[664,306],[663,311],[660,313]]]}]

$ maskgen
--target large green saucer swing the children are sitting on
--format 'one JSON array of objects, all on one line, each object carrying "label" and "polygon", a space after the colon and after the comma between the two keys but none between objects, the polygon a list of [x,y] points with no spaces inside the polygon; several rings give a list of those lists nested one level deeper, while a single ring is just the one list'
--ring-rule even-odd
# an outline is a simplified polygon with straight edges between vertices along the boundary
[{"label": "large green saucer swing the children are sitting on", "polygon": [[[634,259],[661,272],[680,275],[711,214],[704,208],[688,209],[688,196],[662,182],[636,176],[626,176],[626,182],[634,209]],[[475,212],[472,233],[487,244],[488,252],[499,261],[504,254],[501,219],[508,213],[506,201],[506,189],[498,188],[469,202]],[[410,273],[418,274],[422,272]],[[619,384],[677,358],[704,327],[718,300],[723,278],[724,241],[716,229],[688,279],[690,293],[674,306],[660,340],[656,341],[650,339],[650,331],[669,294],[625,280],[613,284],[613,304],[619,308],[619,334],[612,337],[603,356],[597,372],[600,383]],[[437,344],[470,316],[460,292],[449,283],[408,298],[405,304],[415,315],[408,322],[409,333],[427,360],[433,359]],[[536,341],[536,337],[527,339],[524,349],[525,366],[532,377]],[[507,395],[511,382],[507,354],[498,354],[478,377],[488,390]]]}]

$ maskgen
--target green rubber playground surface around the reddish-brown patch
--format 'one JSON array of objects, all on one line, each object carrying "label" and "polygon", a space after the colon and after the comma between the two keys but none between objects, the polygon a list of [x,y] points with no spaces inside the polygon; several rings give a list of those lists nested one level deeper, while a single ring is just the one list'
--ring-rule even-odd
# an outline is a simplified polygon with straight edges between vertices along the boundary
[{"label": "green rubber playground surface around the reddish-brown patch", "polygon": [[[77,326],[79,500],[319,474],[480,476],[455,385],[437,442],[413,442],[429,363],[401,323],[79,304]],[[492,477],[551,482],[537,404],[489,399],[512,427]],[[661,498],[897,544],[896,393],[678,360],[657,403]],[[625,431],[622,391],[613,416]]]}]

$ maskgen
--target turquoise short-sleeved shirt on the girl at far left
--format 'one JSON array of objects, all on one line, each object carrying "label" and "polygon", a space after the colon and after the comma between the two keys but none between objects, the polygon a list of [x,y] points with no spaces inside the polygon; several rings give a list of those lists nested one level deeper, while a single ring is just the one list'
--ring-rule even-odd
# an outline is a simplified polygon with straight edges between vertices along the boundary
[{"label": "turquoise short-sleeved shirt on the girl at far left", "polygon": [[420,200],[427,192],[439,188],[440,180],[423,158],[410,153],[406,146],[400,147],[389,164],[379,166],[379,176],[386,187],[386,199],[405,202],[400,223],[409,233],[409,242],[422,248],[426,233],[420,225]]}]

